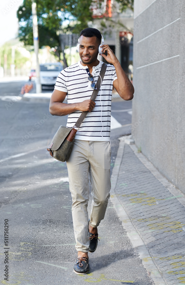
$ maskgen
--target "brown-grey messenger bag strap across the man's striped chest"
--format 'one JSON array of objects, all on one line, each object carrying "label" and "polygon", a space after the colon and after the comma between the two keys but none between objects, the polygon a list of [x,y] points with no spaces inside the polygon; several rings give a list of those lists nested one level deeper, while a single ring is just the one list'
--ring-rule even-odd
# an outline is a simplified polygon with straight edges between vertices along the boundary
[{"label": "brown-grey messenger bag strap across the man's striped chest", "polygon": [[[105,72],[106,72],[106,68],[107,68],[107,64],[103,62],[102,64],[102,68],[100,70],[100,76],[102,78],[102,81],[103,81],[103,78],[104,78],[104,75],[105,75]],[[100,85],[101,85],[101,78],[100,76],[98,77],[98,80],[97,80],[97,83],[96,83],[96,87],[97,87],[97,90],[93,90],[93,93],[91,95],[91,100],[95,100],[96,99],[96,96],[98,94],[98,91],[100,90]],[[87,115],[87,113],[89,113],[89,111],[86,111],[86,112],[82,112],[79,119],[77,120],[76,124],[74,125],[74,127],[77,127],[79,128],[81,123],[83,122],[85,116]]]}]

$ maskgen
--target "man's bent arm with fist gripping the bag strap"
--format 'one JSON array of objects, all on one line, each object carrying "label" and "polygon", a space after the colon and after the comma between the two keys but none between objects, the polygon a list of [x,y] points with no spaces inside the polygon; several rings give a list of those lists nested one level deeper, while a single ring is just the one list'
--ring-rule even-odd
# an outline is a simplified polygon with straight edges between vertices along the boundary
[{"label": "man's bent arm with fist gripping the bag strap", "polygon": [[94,101],[91,99],[85,100],[80,103],[66,104],[63,103],[67,92],[59,91],[54,89],[51,100],[50,100],[50,113],[55,116],[65,116],[75,111],[89,111],[91,112],[94,108]]}]

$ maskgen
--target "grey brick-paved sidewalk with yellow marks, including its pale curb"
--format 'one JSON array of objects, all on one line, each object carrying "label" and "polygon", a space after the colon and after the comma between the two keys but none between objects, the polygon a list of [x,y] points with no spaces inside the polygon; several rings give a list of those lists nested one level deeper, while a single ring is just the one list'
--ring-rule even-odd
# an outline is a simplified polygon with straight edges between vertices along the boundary
[{"label": "grey brick-paved sidewalk with yellow marks, including its pale curb", "polygon": [[185,284],[185,198],[125,138],[111,176],[111,201],[154,283]]}]

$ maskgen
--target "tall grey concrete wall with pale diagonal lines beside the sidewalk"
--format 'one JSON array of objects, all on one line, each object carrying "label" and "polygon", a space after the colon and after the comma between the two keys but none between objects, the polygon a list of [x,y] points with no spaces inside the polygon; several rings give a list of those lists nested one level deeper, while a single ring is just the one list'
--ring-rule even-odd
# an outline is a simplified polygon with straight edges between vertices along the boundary
[{"label": "tall grey concrete wall with pale diagonal lines beside the sidewalk", "polygon": [[132,134],[185,193],[184,0],[135,0]]}]

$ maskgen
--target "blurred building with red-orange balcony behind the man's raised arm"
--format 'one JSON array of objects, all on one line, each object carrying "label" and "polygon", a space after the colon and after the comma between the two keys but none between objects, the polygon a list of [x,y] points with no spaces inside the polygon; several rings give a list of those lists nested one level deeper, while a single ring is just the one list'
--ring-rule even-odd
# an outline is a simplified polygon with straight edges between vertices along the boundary
[{"label": "blurred building with red-orange balcony behind the man's raised arm", "polygon": [[116,1],[106,0],[99,5],[99,1],[92,2],[93,27],[102,30],[105,43],[113,50],[128,74],[128,67],[133,64],[133,11],[127,9],[120,13]]}]

